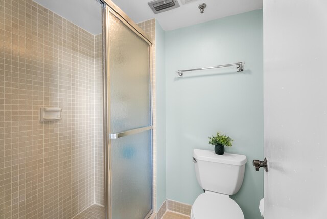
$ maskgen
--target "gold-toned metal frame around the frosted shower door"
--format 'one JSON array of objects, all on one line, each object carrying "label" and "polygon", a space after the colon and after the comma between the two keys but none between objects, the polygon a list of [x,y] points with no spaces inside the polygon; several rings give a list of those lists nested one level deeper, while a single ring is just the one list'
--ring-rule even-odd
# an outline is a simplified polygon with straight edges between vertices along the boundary
[{"label": "gold-toned metal frame around the frosted shower door", "polygon": [[134,33],[141,37],[149,44],[149,70],[150,70],[150,126],[151,126],[151,210],[145,218],[149,218],[153,213],[153,92],[152,92],[152,49],[153,40],[149,37],[134,21],[132,21],[118,6],[111,0],[97,0],[102,3],[102,42],[103,42],[103,136],[104,136],[104,178],[105,178],[105,218],[112,218],[112,169],[111,169],[111,139],[110,133],[110,68],[109,57],[110,41],[109,41],[109,13],[114,14]]}]

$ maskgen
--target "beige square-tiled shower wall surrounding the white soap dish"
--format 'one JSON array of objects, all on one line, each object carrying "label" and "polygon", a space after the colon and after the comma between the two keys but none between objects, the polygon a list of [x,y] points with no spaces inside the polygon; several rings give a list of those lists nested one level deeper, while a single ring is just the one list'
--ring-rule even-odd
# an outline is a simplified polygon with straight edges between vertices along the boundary
[{"label": "beige square-tiled shower wall surrounding the white soap dish", "polygon": [[[1,219],[103,204],[100,38],[32,0],[0,0]],[[39,122],[42,106],[62,120]]]}]

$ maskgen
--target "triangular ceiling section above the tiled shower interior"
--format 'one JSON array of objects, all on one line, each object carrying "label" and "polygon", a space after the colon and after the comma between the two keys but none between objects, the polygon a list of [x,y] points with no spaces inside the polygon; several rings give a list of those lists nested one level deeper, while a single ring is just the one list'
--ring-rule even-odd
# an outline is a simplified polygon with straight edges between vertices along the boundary
[{"label": "triangular ceiling section above the tiled shower interior", "polygon": [[101,5],[96,0],[33,0],[96,35],[102,30]]}]

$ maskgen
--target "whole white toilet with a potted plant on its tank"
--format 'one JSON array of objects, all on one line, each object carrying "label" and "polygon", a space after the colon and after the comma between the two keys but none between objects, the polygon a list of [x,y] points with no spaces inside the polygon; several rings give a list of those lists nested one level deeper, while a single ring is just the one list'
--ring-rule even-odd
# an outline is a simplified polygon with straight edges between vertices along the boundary
[{"label": "whole white toilet with a potted plant on its tank", "polygon": [[216,155],[214,151],[193,151],[196,178],[205,193],[193,203],[191,219],[244,219],[240,206],[229,195],[243,183],[245,155]]}]

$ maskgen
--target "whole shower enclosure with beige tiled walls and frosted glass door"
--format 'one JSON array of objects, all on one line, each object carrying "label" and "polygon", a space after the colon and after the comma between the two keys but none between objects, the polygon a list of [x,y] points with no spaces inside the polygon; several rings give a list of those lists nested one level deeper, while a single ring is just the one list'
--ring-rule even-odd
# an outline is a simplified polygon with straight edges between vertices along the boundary
[{"label": "whole shower enclosure with beige tiled walls and frosted glass door", "polygon": [[0,219],[148,218],[151,70],[110,0],[0,0]]}]

